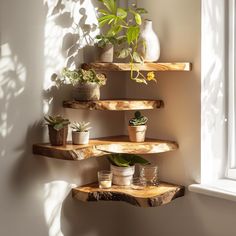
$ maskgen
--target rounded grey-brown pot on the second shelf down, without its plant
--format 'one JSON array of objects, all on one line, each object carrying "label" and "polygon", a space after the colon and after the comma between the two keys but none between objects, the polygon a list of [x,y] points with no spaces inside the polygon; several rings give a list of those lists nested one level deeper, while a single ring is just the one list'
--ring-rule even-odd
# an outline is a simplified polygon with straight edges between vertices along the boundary
[{"label": "rounded grey-brown pot on the second shelf down, without its plant", "polygon": [[100,99],[100,86],[97,83],[87,82],[77,85],[72,97],[77,101],[96,101]]}]

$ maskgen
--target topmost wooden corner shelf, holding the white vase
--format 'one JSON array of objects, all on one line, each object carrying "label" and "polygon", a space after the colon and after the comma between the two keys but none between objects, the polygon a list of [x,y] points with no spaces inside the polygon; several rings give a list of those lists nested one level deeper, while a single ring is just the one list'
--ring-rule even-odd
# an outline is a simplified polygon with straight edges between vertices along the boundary
[{"label": "topmost wooden corner shelf, holding the white vase", "polygon": [[[140,71],[191,71],[190,62],[173,62],[173,63],[135,63],[134,66]],[[83,64],[84,68],[93,68],[100,71],[130,71],[129,63],[89,63]]]}]

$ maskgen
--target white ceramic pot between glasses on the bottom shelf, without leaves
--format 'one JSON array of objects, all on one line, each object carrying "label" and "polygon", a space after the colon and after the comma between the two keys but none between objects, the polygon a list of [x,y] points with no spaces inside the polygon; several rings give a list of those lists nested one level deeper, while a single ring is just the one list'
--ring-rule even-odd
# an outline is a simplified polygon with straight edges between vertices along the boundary
[{"label": "white ceramic pot between glasses on the bottom shelf, without leaves", "polygon": [[134,175],[135,167],[118,167],[110,166],[111,172],[113,174],[112,183],[120,186],[127,186],[131,184],[131,180]]}]

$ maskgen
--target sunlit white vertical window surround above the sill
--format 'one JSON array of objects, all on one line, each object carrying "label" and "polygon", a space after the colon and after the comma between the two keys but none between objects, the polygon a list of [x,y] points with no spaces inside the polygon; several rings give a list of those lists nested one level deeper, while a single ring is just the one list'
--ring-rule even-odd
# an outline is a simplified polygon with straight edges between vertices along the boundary
[{"label": "sunlit white vertical window surround above the sill", "polygon": [[[209,183],[222,170],[225,155],[225,22],[224,1],[207,0],[202,7],[202,173]],[[220,134],[220,135],[219,135]]]}]

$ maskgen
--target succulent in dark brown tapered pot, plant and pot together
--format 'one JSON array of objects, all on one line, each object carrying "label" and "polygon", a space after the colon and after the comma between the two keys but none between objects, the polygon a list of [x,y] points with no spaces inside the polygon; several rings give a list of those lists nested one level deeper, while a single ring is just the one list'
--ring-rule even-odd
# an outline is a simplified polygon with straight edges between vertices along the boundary
[{"label": "succulent in dark brown tapered pot, plant and pot together", "polygon": [[44,116],[48,126],[49,140],[52,146],[66,145],[68,125],[70,121],[60,115]]}]

